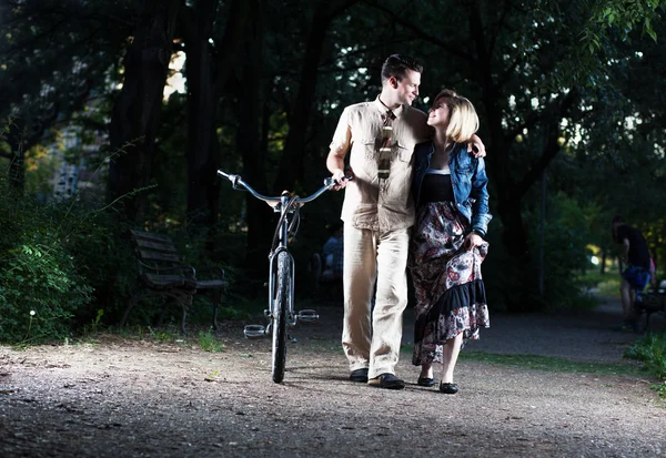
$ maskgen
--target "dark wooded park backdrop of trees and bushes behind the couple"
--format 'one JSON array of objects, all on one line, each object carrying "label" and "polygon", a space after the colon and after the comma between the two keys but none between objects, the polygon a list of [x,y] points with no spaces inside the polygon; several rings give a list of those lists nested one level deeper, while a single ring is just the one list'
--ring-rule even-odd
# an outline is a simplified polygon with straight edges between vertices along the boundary
[{"label": "dark wooded park backdrop of trees and bushes behind the couple", "polygon": [[[663,12],[650,0],[2,0],[0,340],[118,325],[140,286],[130,228],[224,267],[224,317],[262,309],[275,217],[215,171],[266,194],[315,191],[342,109],[376,96],[392,53],[425,65],[416,106],[446,86],[480,113],[494,312],[617,294],[617,213],[662,274]],[[309,259],[342,199],[301,212],[304,303],[326,299]],[[142,303],[131,325],[160,307]],[[191,322],[208,307],[196,297]]]}]

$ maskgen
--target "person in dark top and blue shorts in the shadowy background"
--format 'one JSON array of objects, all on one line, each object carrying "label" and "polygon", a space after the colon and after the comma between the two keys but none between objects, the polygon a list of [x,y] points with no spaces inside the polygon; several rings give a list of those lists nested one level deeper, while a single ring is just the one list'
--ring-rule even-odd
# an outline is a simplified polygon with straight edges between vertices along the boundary
[{"label": "person in dark top and blue shorts in the shadowy background", "polygon": [[638,333],[634,302],[636,295],[645,289],[650,278],[649,250],[643,233],[625,224],[624,218],[619,215],[613,217],[613,238],[616,243],[622,244],[622,259],[627,265],[622,273],[622,285],[619,286],[624,323],[614,329]]}]

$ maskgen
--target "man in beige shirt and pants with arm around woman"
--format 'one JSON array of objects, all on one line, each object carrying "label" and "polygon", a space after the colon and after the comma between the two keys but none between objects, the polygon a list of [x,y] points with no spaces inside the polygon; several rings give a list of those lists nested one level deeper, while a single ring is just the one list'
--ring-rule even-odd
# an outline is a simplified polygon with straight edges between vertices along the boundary
[{"label": "man in beige shirt and pants with arm around woman", "polygon": [[[414,145],[428,140],[426,114],[412,108],[423,68],[394,54],[382,67],[382,92],[344,109],[326,166],[346,187],[344,221],[344,323],[342,346],[350,379],[402,389],[395,376],[407,305],[406,264],[414,204],[410,195]],[[480,155],[483,143],[475,136]],[[350,169],[344,159],[350,151]],[[352,176],[353,180],[347,180]],[[379,267],[379,268],[377,268]],[[371,309],[373,294],[376,296]]]}]

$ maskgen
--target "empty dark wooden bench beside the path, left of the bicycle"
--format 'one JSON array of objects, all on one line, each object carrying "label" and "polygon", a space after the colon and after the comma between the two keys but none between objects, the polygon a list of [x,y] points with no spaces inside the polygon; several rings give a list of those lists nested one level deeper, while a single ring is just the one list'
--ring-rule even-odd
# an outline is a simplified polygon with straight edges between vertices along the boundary
[{"label": "empty dark wooden bench beside the path, left of the bicycle", "polygon": [[131,236],[142,289],[130,299],[120,325],[125,325],[130,312],[138,302],[151,296],[171,297],[182,307],[181,332],[185,334],[185,320],[192,298],[198,292],[203,291],[209,293],[209,299],[213,305],[213,328],[218,329],[218,307],[222,293],[229,284],[224,269],[213,267],[196,271],[193,266],[183,263],[168,235],[131,231]]}]

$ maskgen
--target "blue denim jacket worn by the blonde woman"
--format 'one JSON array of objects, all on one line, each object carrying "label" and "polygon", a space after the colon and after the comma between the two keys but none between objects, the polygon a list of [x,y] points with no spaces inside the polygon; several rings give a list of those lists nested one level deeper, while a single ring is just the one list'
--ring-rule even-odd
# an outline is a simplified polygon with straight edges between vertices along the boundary
[{"label": "blue denim jacket worn by the blonde woman", "polygon": [[[421,184],[430,169],[431,157],[435,152],[432,141],[418,143],[414,147],[414,177],[412,196],[418,210]],[[485,237],[492,215],[488,213],[488,177],[485,161],[467,153],[466,143],[456,143],[448,156],[451,184],[457,210],[467,218],[472,231]]]}]

